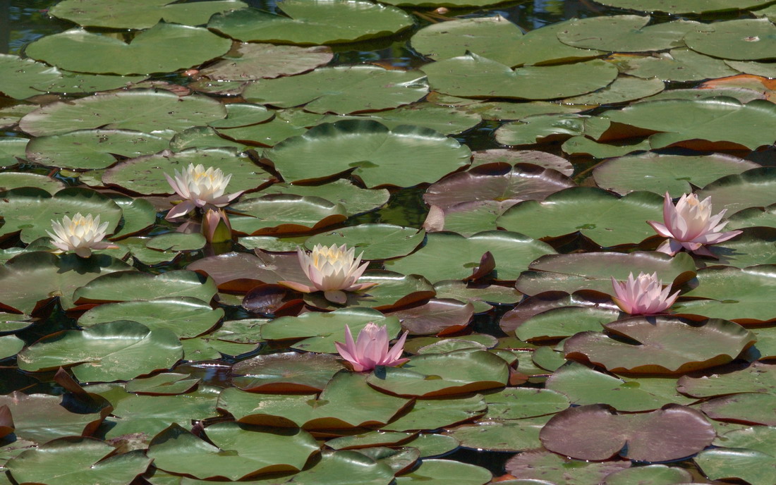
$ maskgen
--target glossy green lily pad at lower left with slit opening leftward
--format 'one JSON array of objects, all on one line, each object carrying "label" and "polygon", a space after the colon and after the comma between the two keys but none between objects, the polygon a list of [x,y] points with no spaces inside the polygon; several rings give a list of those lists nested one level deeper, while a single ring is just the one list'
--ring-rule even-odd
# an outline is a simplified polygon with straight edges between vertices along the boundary
[{"label": "glossy green lily pad at lower left with slit opening leftward", "polygon": [[117,320],[43,338],[19,352],[17,359],[19,369],[29,372],[74,365],[73,374],[81,382],[99,382],[169,369],[182,355],[180,341],[171,331],[151,331],[137,322]]}]

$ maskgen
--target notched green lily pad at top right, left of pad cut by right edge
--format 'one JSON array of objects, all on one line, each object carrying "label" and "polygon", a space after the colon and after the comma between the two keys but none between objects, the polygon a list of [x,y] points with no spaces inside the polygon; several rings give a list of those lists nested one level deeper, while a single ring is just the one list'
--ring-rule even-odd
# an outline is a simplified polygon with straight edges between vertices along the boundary
[{"label": "notched green lily pad at top right, left of pad cut by right edge", "polygon": [[705,29],[705,25],[687,20],[650,23],[648,16],[600,16],[572,19],[559,31],[558,39],[573,47],[612,52],[644,52],[683,47],[687,33]]}]

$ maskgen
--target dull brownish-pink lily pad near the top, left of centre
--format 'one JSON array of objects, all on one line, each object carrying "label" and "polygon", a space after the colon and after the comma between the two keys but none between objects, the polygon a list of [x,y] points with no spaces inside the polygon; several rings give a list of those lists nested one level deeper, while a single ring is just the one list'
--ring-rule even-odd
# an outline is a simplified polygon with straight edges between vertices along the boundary
[{"label": "dull brownish-pink lily pad near the top, left of centre", "polygon": [[[199,74],[219,81],[278,78],[300,74],[327,64],[334,54],[327,46],[296,47],[275,46],[271,43],[238,43],[222,57],[223,61],[202,69]],[[227,109],[229,106],[227,105]]]}]

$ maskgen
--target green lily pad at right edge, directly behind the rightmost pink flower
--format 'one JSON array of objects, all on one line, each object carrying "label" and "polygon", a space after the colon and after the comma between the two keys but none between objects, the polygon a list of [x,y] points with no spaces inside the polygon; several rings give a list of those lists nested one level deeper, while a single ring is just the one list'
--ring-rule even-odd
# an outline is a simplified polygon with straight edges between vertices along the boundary
[{"label": "green lily pad at right edge, directly behind the rightmost pink flower", "polygon": [[[750,207],[764,207],[776,203],[773,188],[776,186],[776,168],[760,167],[718,178],[706,185],[698,196],[712,198],[715,210],[727,209],[728,213]],[[746,194],[746,197],[743,196]]]}]

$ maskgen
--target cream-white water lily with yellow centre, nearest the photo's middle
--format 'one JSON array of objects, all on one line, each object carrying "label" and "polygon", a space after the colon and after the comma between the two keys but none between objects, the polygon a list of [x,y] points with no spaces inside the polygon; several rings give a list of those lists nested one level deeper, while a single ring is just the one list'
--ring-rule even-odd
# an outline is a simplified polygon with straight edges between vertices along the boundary
[{"label": "cream-white water lily with yellow centre, nearest the photo's middle", "polygon": [[283,286],[296,289],[302,293],[324,292],[326,300],[333,303],[344,304],[348,301],[346,291],[361,291],[372,288],[377,283],[356,283],[365,272],[368,263],[361,264],[362,252],[355,258],[355,248],[348,249],[345,244],[337,247],[331,244],[331,248],[316,244],[310,255],[302,248],[296,249],[299,264],[310,285],[293,281],[279,281]]}]

